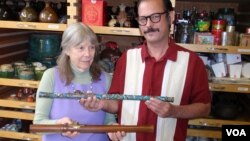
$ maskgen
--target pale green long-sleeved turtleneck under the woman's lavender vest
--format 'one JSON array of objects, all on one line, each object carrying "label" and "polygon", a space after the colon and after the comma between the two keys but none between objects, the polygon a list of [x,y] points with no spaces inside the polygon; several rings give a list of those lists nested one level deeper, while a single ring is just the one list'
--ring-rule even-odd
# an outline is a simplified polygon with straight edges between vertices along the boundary
[{"label": "pale green long-sleeved turtleneck under the woman's lavender vest", "polygon": [[[55,68],[50,68],[46,70],[43,74],[43,77],[40,81],[37,96],[36,96],[36,109],[35,109],[35,117],[34,117],[34,124],[55,124],[57,120],[49,119],[50,109],[53,103],[52,99],[48,98],[39,98],[38,92],[53,92],[54,89],[54,79],[55,79]],[[80,72],[76,69],[72,69],[75,75],[73,79],[74,83],[77,84],[90,84],[92,81],[92,77],[90,75],[89,70]],[[106,77],[106,89],[108,90],[112,77],[105,73]],[[115,122],[115,115],[106,113],[105,124]]]}]

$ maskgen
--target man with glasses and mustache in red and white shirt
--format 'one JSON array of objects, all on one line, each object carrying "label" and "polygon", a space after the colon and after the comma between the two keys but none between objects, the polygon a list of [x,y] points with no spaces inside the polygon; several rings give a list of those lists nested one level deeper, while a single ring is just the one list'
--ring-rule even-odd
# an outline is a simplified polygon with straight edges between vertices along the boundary
[{"label": "man with glasses and mustache in red and white shirt", "polygon": [[[194,52],[176,45],[169,38],[174,17],[170,0],[141,0],[138,15],[145,42],[123,53],[117,62],[109,93],[168,96],[174,97],[174,102],[156,98],[146,102],[118,102],[119,124],[154,125],[155,131],[116,132],[109,133],[109,137],[114,141],[184,141],[188,119],[204,117],[210,112],[205,66]],[[99,106],[112,112],[116,109],[113,101],[109,104],[94,104],[97,101],[93,99],[88,99],[89,103],[86,101],[83,102],[85,107]],[[111,107],[110,103],[115,106]]]}]

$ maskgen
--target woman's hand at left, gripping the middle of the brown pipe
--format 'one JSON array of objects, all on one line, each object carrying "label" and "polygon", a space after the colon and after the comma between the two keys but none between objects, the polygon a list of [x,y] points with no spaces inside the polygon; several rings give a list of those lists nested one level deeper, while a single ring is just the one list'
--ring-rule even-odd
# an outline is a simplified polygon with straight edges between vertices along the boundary
[{"label": "woman's hand at left, gripping the middle of the brown pipe", "polygon": [[[61,119],[59,119],[57,122],[56,122],[57,124],[75,124],[75,122],[74,121],[72,121],[70,118],[68,118],[68,117],[64,117],[64,118],[61,118]],[[67,132],[63,132],[62,133],[62,136],[65,136],[65,137],[68,137],[68,138],[73,138],[73,137],[75,137],[75,136],[77,136],[79,134],[79,132],[77,132],[77,131],[74,131],[74,132],[72,132],[72,131],[67,131]]]}]

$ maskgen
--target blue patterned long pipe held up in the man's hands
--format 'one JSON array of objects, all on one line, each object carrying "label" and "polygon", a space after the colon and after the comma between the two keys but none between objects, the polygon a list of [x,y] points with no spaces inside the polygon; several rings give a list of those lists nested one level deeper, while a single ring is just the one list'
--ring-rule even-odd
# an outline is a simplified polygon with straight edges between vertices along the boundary
[{"label": "blue patterned long pipe held up in the man's hands", "polygon": [[[96,96],[97,99],[105,100],[149,100],[152,96],[144,95],[127,95],[127,94],[94,94],[94,93],[84,93],[76,90],[73,93],[49,93],[49,92],[39,92],[39,97],[43,98],[61,98],[61,99],[81,99]],[[164,102],[174,102],[174,97],[165,96],[155,96],[159,100]]]}]

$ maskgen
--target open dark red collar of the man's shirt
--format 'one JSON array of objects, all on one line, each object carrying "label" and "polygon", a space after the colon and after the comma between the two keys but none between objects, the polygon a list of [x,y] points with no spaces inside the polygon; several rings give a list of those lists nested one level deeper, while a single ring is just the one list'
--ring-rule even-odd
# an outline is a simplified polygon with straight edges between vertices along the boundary
[{"label": "open dark red collar of the man's shirt", "polygon": [[[170,42],[168,44],[169,44],[169,48],[167,49],[166,53],[160,60],[176,61],[177,51],[178,51],[177,45],[172,39],[170,39]],[[142,57],[142,61],[144,62],[147,58],[151,58],[150,54],[148,53],[148,47],[147,47],[146,41],[143,42],[143,44],[141,45],[141,48],[142,48],[141,57]]]}]

